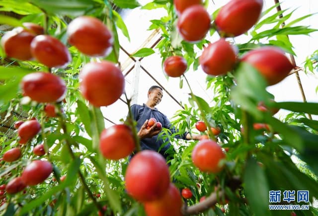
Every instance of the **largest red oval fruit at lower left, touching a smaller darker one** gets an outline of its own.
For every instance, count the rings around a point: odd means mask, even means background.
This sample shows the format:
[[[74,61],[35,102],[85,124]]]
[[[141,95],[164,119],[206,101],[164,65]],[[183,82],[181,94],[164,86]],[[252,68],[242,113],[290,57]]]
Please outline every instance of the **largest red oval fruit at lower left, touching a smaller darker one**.
[[[28,186],[42,183],[53,171],[49,161],[33,160],[22,171],[22,180]]]

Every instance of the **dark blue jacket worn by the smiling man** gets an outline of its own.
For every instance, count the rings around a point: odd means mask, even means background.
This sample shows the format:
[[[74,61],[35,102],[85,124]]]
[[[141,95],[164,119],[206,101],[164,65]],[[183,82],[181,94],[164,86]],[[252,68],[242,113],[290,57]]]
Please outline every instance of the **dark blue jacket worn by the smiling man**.
[[[137,121],[137,131],[140,130],[147,119],[155,118],[157,122],[160,122],[162,124],[163,128],[169,129],[172,134],[178,132],[178,130],[176,130],[174,127],[171,127],[170,121],[164,114],[159,112],[157,108],[151,109],[146,104],[143,104],[143,106],[134,104],[131,106],[131,111],[133,118],[135,119],[135,121]],[[176,135],[174,138],[186,140],[187,134],[188,132],[185,132],[182,136]],[[152,138],[142,139],[140,140],[140,144],[142,150],[150,149],[159,151],[159,153],[165,158],[168,156],[165,151],[171,146],[168,139],[163,139],[162,136],[159,135],[156,135]],[[161,147],[162,144],[164,145]]]

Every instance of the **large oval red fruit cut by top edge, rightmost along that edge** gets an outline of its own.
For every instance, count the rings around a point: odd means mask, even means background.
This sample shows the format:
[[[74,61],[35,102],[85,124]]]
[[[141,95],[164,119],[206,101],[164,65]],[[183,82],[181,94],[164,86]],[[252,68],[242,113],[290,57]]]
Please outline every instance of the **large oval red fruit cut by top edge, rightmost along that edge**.
[[[263,0],[230,0],[218,12],[215,24],[221,35],[239,36],[259,19]]]

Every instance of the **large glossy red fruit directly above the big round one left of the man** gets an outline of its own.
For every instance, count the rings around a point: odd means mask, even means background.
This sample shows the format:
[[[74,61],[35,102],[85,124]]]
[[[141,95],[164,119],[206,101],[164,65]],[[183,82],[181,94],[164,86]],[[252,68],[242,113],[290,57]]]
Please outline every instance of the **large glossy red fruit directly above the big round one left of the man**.
[[[79,16],[70,22],[68,42],[88,56],[107,56],[113,45],[113,35],[99,19]]]

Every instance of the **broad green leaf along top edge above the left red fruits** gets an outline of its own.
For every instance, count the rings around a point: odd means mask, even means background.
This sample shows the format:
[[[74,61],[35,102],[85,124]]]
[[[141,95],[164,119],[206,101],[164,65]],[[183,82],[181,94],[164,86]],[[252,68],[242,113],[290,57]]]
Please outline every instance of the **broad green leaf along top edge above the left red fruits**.
[[[102,6],[91,0],[31,0],[38,7],[51,14],[80,16],[86,11]]]

